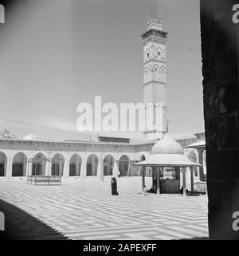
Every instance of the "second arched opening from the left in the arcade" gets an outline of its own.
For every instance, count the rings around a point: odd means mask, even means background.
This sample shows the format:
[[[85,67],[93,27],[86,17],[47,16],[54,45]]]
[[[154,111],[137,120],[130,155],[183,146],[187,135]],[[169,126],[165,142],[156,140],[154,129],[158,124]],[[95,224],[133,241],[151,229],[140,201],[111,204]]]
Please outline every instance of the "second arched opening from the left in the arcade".
[[[14,156],[12,176],[13,177],[22,177],[25,176],[27,165],[27,157],[24,153],[19,152]]]

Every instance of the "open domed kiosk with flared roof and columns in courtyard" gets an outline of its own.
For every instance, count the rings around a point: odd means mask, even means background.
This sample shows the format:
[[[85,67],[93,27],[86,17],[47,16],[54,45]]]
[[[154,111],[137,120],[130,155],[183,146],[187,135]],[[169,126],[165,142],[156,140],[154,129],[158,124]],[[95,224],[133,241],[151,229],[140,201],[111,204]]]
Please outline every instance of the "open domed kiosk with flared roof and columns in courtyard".
[[[200,166],[184,156],[183,148],[178,142],[166,134],[162,140],[155,143],[150,156],[146,160],[135,163],[138,166],[152,168],[152,191],[157,193],[179,193],[180,171],[182,171],[183,195],[186,195],[186,167],[190,167],[191,192],[194,192],[194,167]],[[145,184],[144,171],[142,174]]]

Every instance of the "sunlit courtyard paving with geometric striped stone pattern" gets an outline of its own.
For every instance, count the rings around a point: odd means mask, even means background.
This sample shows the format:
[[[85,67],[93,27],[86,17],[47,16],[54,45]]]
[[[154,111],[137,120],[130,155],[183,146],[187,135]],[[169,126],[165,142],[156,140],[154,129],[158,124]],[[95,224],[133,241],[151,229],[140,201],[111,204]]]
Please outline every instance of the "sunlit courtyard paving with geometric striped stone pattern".
[[[147,187],[151,179],[147,178]],[[70,179],[61,186],[33,186],[0,179],[0,199],[71,239],[182,239],[208,237],[207,196],[141,193],[140,177]]]

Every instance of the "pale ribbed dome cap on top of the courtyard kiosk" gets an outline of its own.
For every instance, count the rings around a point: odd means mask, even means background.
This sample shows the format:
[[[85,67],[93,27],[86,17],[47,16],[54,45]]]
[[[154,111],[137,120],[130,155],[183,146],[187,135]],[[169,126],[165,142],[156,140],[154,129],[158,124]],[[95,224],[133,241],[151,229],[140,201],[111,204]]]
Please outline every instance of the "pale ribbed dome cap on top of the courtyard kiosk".
[[[162,140],[159,140],[155,143],[151,150],[151,154],[178,154],[183,155],[183,149],[176,142],[172,140],[167,134],[163,137]]]

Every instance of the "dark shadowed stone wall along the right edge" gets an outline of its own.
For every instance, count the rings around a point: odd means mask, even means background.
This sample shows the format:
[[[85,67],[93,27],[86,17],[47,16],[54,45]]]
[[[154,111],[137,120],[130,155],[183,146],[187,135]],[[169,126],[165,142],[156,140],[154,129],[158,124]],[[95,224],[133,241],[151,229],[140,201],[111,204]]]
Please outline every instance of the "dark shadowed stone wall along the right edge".
[[[203,100],[209,231],[212,239],[239,238],[239,28],[235,0],[201,0]],[[238,216],[239,217],[239,216]]]

